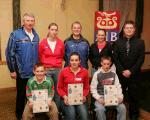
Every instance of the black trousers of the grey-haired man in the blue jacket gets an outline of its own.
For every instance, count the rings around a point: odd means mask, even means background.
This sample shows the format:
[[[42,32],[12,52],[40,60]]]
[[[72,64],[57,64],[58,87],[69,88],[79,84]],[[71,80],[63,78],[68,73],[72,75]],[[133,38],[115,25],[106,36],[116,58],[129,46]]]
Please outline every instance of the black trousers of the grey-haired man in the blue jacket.
[[[26,85],[28,78],[21,78],[17,75],[16,79],[16,117],[17,119],[22,118],[22,114],[24,111],[25,103],[26,103]]]

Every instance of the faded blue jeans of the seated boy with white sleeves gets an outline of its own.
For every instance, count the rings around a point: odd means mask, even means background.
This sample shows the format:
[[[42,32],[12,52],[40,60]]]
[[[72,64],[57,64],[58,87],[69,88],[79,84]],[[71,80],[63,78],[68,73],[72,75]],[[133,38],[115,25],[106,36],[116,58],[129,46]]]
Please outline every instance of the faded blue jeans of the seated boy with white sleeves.
[[[126,107],[125,107],[125,105],[123,103],[119,104],[116,107],[116,110],[117,110],[117,120],[126,120]],[[95,101],[95,111],[96,111],[97,120],[106,120],[105,106],[100,104],[98,101]]]

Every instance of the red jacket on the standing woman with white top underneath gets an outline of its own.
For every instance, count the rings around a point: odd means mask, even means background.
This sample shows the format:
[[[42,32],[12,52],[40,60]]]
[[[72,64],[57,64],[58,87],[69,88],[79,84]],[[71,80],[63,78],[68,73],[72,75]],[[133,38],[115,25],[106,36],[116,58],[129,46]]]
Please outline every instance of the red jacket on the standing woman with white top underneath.
[[[39,59],[44,67],[61,68],[64,57],[64,43],[57,38],[54,53],[52,52],[47,38],[39,44]]]

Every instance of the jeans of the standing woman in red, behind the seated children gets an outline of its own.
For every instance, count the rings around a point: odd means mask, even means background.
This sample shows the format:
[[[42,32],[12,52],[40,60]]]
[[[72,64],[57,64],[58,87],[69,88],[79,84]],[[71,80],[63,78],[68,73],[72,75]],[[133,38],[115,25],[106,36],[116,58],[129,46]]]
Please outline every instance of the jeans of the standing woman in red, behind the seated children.
[[[61,70],[60,68],[56,68],[54,70],[47,70],[47,73],[46,73],[46,75],[52,77],[54,81],[54,89],[55,89],[54,101],[57,105],[59,112],[61,111],[61,104],[60,104],[60,96],[58,95],[58,92],[57,92],[57,83],[58,83],[58,75],[59,75],[60,70]]]

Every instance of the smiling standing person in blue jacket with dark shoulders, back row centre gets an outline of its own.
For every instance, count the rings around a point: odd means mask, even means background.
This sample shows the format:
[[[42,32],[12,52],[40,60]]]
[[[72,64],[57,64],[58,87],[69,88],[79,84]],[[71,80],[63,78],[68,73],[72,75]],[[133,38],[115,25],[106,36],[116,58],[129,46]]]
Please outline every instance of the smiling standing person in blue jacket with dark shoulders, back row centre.
[[[81,35],[82,26],[76,21],[71,26],[72,35],[65,40],[65,67],[69,65],[72,52],[77,52],[81,57],[81,65],[88,68],[89,42]]]

